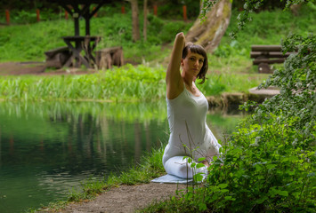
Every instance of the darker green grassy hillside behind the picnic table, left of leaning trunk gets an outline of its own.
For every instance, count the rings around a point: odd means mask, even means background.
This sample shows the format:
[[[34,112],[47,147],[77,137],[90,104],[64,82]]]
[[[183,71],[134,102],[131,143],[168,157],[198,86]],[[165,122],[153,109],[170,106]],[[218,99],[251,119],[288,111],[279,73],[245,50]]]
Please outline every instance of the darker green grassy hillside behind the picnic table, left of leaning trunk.
[[[142,17],[140,17],[142,31]],[[85,36],[85,20],[80,20],[80,35]],[[191,23],[172,22],[149,15],[148,41],[132,42],[131,14],[115,13],[91,20],[91,35],[101,36],[97,49],[122,46],[125,59],[136,63],[161,57],[161,44],[171,42],[180,30]],[[45,51],[65,46],[61,36],[73,36],[74,23],[63,18],[25,25],[12,25],[0,31],[1,61],[43,61]]]

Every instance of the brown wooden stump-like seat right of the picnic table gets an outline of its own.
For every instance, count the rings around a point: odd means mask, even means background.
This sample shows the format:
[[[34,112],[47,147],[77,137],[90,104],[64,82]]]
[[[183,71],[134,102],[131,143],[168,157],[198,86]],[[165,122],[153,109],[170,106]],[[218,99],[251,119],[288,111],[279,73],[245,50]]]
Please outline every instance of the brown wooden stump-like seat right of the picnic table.
[[[111,68],[112,66],[123,66],[123,48],[109,47],[96,52],[96,64],[99,68]]]

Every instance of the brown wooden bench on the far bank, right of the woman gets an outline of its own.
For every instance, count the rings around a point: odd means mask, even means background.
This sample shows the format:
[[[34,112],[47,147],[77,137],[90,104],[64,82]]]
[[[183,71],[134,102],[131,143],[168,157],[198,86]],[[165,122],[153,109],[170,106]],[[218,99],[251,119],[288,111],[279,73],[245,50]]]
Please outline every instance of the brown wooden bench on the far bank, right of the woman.
[[[272,73],[271,64],[281,64],[294,52],[283,54],[280,45],[252,45],[250,58],[254,59],[253,65],[258,66],[259,73]]]

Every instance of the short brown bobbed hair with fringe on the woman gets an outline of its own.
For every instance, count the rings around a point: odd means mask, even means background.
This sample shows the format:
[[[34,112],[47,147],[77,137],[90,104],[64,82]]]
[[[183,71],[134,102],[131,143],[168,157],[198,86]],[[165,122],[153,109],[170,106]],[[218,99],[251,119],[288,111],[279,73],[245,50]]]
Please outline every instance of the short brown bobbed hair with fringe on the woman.
[[[202,79],[200,84],[204,83],[207,79],[207,69],[208,69],[208,61],[207,61],[207,52],[204,50],[202,46],[194,43],[187,43],[182,50],[182,59],[185,59],[190,52],[198,53],[199,55],[204,57],[203,66],[201,70],[199,70],[199,74],[197,76],[198,79]]]

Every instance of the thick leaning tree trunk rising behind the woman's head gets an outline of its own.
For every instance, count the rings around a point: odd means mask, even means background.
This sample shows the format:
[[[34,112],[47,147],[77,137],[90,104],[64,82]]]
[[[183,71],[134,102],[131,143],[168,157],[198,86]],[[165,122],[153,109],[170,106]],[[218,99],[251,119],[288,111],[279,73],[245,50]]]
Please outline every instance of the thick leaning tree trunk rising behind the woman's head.
[[[196,20],[190,28],[185,40],[203,46],[206,51],[213,52],[231,20],[231,1],[221,0],[207,12],[206,20]]]

